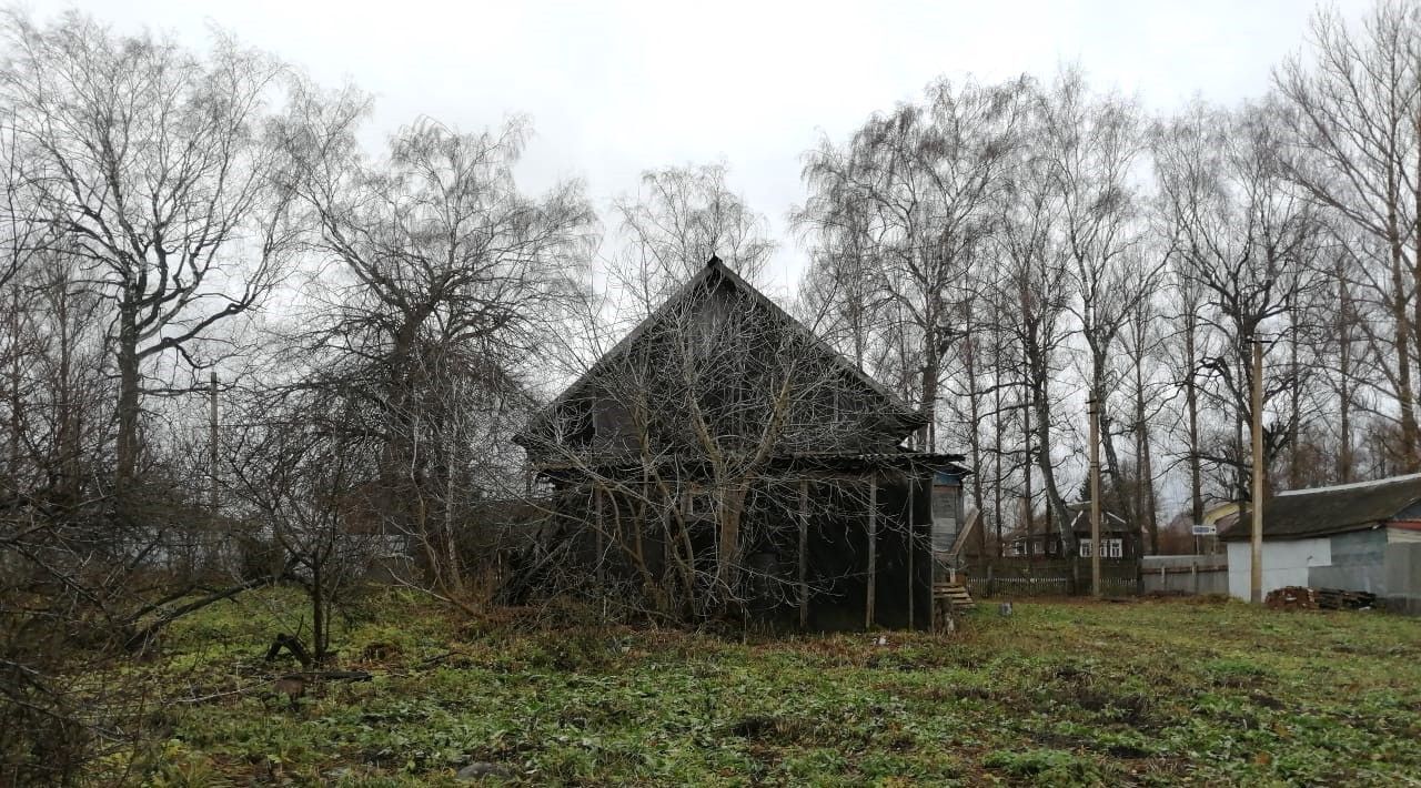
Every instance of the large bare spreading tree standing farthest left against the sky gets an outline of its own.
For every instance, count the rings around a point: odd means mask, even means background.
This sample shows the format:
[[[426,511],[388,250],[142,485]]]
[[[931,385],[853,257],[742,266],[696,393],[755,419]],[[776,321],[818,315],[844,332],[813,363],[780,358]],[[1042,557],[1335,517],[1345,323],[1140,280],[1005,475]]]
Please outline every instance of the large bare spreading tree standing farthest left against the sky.
[[[219,37],[200,57],[169,38],[117,35],[67,14],[11,13],[0,99],[13,112],[34,207],[55,253],[84,261],[114,305],[115,481],[138,463],[145,368],[212,362],[195,351],[276,284],[290,192],[263,141],[283,67]]]

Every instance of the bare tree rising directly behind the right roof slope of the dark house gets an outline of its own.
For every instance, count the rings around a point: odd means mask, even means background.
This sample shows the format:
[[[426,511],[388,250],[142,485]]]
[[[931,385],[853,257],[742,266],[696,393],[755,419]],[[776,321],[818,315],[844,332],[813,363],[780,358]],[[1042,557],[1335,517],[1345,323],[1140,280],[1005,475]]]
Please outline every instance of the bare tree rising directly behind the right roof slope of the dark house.
[[[922,105],[871,118],[845,151],[824,143],[804,166],[813,195],[797,221],[818,227],[831,244],[848,244],[855,264],[837,277],[848,314],[860,319],[864,310],[858,281],[878,290],[882,307],[874,314],[894,322],[884,339],[897,345],[892,361],[885,358],[895,369],[880,373],[898,378],[904,396],[929,416],[925,447],[936,443],[945,359],[963,335],[956,319],[971,300],[969,271],[983,260],[996,221],[993,204],[1017,145],[1025,85],[934,82]],[[867,271],[860,263],[865,240]]]

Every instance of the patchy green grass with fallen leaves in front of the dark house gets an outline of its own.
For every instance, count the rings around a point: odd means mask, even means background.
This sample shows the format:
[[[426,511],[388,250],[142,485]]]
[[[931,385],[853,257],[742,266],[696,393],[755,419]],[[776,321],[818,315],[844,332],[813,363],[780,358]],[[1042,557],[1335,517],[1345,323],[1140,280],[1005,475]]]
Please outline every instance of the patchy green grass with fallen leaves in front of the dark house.
[[[210,608],[135,669],[216,696],[153,704],[159,785],[453,785],[468,761],[583,785],[1421,784],[1418,619],[1026,601],[880,646],[531,629],[391,592],[337,636],[374,680],[293,708],[261,662],[281,608]]]

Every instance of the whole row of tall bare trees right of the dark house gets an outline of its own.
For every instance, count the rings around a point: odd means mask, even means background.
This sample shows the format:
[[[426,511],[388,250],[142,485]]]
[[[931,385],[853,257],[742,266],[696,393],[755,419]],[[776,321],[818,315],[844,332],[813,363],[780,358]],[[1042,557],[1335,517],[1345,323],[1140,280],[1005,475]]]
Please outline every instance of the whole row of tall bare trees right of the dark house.
[[[1246,498],[1255,342],[1270,490],[1421,470],[1418,14],[1319,11],[1236,106],[941,80],[806,156],[800,297],[969,454],[983,548],[1071,542],[1090,402],[1103,503],[1147,548]]]

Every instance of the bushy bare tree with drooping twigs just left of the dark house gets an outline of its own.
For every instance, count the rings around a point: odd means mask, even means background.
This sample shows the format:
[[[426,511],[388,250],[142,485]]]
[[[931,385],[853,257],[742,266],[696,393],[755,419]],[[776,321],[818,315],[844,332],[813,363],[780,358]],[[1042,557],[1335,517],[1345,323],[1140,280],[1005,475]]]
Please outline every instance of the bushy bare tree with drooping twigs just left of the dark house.
[[[360,112],[347,97],[314,125],[348,129]],[[338,146],[290,139],[318,229],[313,251],[334,264],[314,290],[324,314],[301,339],[317,369],[310,385],[364,402],[381,469],[368,501],[388,532],[421,545],[426,588],[460,605],[453,544],[463,522],[450,491],[492,456],[470,454],[476,427],[500,430],[487,436],[495,443],[512,436],[503,409],[529,399],[523,375],[583,300],[591,253],[593,214],[577,183],[540,199],[519,192],[513,166],[527,131],[513,121],[460,133],[426,121],[401,131],[382,162],[341,131]]]

